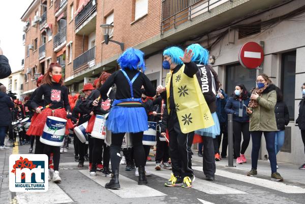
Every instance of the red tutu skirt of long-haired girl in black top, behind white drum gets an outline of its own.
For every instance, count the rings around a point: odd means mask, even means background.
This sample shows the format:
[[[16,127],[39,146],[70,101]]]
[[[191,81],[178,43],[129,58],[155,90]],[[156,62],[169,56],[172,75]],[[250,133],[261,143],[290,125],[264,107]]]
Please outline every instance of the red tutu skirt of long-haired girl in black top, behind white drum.
[[[52,113],[52,109],[46,108],[42,111],[41,114],[37,114],[35,118],[34,116],[32,118],[31,126],[29,126],[26,132],[27,135],[41,136],[48,116],[55,116],[67,120],[66,133],[65,133],[66,135],[69,134],[69,129],[73,128],[72,121],[70,119],[67,119],[67,112],[65,108],[56,109],[54,111],[54,114]]]

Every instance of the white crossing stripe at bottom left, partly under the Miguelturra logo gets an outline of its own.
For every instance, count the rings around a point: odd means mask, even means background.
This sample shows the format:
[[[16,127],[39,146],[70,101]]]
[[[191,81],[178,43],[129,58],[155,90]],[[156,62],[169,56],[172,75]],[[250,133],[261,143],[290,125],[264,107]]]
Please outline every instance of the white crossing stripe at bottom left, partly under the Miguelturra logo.
[[[51,195],[50,195],[51,192]],[[74,202],[57,184],[49,182],[47,192],[16,192],[18,204],[71,203]]]

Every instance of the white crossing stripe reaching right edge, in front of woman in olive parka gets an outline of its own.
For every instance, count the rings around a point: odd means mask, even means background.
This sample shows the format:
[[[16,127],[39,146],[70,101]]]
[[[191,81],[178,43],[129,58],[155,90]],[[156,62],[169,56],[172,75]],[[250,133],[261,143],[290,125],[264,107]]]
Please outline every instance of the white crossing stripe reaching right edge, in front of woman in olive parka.
[[[195,166],[193,169],[202,171],[202,168],[197,167],[197,166]],[[256,177],[248,177],[246,175],[241,175],[238,173],[231,173],[229,171],[217,169],[215,174],[217,176],[234,179],[234,180],[241,181],[241,182],[246,182],[248,184],[254,184],[254,185],[269,188],[272,190],[281,191],[283,193],[305,193],[305,189],[298,187],[298,186],[292,186],[292,185],[288,185],[285,183],[270,181],[270,180],[266,180],[266,179],[260,179],[260,178],[256,178]]]

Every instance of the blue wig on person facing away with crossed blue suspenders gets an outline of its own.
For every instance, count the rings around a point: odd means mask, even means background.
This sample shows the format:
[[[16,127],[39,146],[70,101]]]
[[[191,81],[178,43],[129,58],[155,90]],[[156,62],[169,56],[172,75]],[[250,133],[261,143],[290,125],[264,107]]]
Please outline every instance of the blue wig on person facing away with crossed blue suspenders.
[[[123,54],[121,54],[117,63],[121,69],[130,69],[130,70],[142,70],[144,73],[146,67],[144,62],[144,53],[141,50],[128,48]]]

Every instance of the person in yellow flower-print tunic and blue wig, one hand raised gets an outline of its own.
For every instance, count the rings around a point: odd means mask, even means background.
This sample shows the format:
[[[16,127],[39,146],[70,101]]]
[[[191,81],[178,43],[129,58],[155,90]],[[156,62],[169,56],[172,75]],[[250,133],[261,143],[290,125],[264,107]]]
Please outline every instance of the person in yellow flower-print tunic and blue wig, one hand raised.
[[[167,100],[169,151],[172,162],[170,180],[165,186],[192,187],[195,179],[192,169],[194,131],[214,125],[195,77],[198,67],[191,62],[192,50],[183,52],[170,47],[163,52],[163,68],[170,69],[166,76],[166,89],[159,85],[157,91]]]

